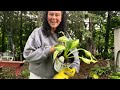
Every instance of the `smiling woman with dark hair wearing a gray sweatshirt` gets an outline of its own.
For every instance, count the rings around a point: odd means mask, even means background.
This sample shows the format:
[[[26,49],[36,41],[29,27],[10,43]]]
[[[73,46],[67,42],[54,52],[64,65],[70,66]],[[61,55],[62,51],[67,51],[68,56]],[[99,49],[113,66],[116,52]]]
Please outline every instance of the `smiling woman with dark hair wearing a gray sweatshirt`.
[[[66,34],[67,14],[65,11],[46,11],[43,26],[35,29],[28,38],[23,56],[29,62],[30,79],[51,79],[57,73],[52,55],[55,51],[59,32]],[[71,65],[79,72],[80,61]]]

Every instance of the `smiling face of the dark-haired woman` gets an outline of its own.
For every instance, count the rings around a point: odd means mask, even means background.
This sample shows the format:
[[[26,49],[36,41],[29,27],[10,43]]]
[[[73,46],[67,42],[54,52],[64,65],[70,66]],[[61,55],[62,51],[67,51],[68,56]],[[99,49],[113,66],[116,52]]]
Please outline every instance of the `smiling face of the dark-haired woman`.
[[[54,31],[60,24],[62,19],[61,11],[48,11],[47,21],[51,27],[51,30]]]

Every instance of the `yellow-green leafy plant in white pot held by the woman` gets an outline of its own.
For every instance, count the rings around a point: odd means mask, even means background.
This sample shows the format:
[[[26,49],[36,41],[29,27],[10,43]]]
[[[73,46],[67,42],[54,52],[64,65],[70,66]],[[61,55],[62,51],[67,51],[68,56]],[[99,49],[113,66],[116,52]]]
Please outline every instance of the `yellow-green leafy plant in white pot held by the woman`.
[[[53,54],[53,61],[54,61],[54,69],[59,72],[60,70],[64,68],[68,68],[70,64],[74,60],[74,55],[73,53],[76,51],[83,51],[83,55],[81,56],[79,53],[79,58],[83,62],[90,64],[91,62],[96,63],[97,60],[95,57],[87,50],[83,48],[78,48],[79,45],[79,39],[71,39],[67,38],[63,32],[61,32],[63,36],[58,38],[59,44],[55,45],[55,52]]]

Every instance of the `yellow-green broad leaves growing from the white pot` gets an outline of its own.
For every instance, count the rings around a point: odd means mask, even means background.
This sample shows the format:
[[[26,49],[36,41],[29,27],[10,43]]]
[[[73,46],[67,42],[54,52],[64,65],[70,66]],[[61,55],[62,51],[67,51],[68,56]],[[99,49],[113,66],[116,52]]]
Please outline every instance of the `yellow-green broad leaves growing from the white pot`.
[[[63,32],[61,32],[63,33]],[[70,58],[74,58],[74,56],[71,54],[73,54],[74,52],[78,51],[78,50],[82,50],[84,51],[84,54],[86,57],[89,58],[85,58],[83,56],[79,56],[78,58],[80,58],[81,60],[83,60],[83,62],[90,64],[90,62],[96,63],[96,59],[95,57],[87,50],[83,49],[83,48],[77,48],[79,45],[79,39],[71,39],[71,38],[67,38],[64,33],[63,36],[58,38],[58,42],[60,42],[60,44],[55,45],[55,49],[56,51],[53,54],[53,59],[56,60],[56,58],[58,58],[57,56],[62,56],[63,58],[63,62],[65,60],[68,60]],[[63,55],[60,55],[61,53],[63,53]]]

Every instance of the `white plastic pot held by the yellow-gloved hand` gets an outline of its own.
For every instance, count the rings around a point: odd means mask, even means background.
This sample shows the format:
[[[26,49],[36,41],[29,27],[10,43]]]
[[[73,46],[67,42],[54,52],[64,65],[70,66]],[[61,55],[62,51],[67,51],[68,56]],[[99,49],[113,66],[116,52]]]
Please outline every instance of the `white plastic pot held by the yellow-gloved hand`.
[[[56,60],[54,62],[54,69],[55,69],[55,71],[59,72],[60,70],[62,70],[64,68],[69,68],[70,65],[71,65],[71,63],[64,63],[59,58],[56,58]]]

